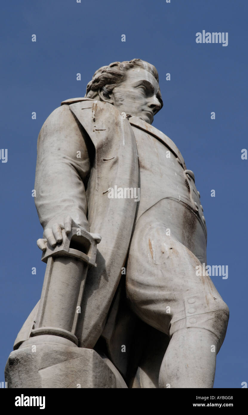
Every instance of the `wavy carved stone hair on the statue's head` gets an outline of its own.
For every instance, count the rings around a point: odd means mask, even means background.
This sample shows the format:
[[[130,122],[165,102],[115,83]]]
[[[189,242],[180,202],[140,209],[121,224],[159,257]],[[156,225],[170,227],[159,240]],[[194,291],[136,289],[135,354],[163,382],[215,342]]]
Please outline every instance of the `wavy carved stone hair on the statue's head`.
[[[107,66],[102,66],[94,73],[92,80],[88,83],[85,97],[94,99],[98,95],[98,90],[103,89],[106,92],[112,92],[115,86],[125,81],[126,71],[141,66],[150,72],[158,81],[158,71],[155,66],[142,59],[132,59],[131,61],[113,62]]]

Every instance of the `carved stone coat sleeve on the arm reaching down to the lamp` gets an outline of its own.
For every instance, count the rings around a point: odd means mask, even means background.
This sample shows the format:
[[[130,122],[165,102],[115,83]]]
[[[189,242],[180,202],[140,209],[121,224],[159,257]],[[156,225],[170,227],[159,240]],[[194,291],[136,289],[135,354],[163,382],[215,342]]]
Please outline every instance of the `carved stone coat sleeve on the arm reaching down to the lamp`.
[[[89,231],[85,178],[90,172],[82,132],[67,105],[56,108],[38,137],[34,189],[42,227],[62,223],[70,215]]]

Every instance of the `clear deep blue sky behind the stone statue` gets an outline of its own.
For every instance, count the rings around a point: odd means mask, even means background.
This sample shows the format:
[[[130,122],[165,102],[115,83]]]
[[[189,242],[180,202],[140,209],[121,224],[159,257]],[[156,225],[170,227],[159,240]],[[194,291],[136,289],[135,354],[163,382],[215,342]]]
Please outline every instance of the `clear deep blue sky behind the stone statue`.
[[[229,267],[228,279],[212,277],[230,308],[214,387],[241,388],[248,382],[248,160],[241,160],[241,149],[248,148],[248,3],[12,0],[2,3],[1,12],[0,148],[8,149],[8,161],[0,162],[0,381],[44,278],[36,247],[42,228],[32,198],[41,125],[62,100],[83,97],[100,66],[141,58],[156,66],[160,78],[164,107],[153,125],[175,142],[195,173],[207,221],[208,264]],[[203,29],[228,32],[228,46],[197,44]]]

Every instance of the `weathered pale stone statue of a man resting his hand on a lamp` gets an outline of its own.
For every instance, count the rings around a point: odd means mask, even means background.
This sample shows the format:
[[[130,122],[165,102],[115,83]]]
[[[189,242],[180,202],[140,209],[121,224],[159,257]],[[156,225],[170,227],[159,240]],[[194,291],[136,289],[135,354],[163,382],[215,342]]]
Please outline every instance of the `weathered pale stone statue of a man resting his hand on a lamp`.
[[[194,173],[152,127],[156,68],[95,72],[41,128],[41,300],[7,361],[12,388],[212,388],[229,310],[208,275]],[[214,351],[214,352],[213,352]]]

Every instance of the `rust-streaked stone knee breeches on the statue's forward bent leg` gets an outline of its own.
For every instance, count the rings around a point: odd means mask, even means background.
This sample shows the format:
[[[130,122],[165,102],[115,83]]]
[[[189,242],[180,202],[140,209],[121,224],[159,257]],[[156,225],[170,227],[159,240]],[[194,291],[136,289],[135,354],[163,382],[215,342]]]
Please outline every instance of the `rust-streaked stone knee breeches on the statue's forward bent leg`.
[[[170,337],[199,327],[211,331],[220,347],[229,309],[211,278],[196,275],[206,258],[206,236],[192,215],[185,204],[164,199],[139,218],[127,262],[127,298],[141,320]],[[194,232],[186,222],[194,222]]]

